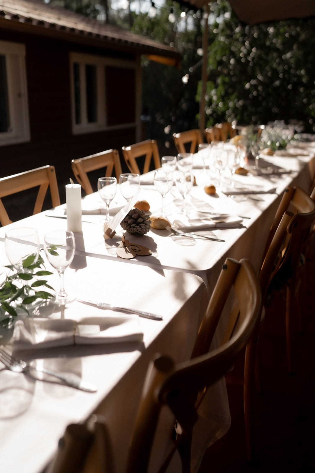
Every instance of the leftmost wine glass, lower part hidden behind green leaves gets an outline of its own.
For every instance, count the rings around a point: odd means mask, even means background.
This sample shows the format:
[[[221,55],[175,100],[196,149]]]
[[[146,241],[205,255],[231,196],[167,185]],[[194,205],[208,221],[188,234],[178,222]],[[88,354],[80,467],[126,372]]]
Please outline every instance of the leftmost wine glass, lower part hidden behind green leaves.
[[[39,236],[35,228],[11,228],[6,232],[4,246],[9,262],[18,272],[27,272],[23,262],[34,257],[36,263],[39,255]]]

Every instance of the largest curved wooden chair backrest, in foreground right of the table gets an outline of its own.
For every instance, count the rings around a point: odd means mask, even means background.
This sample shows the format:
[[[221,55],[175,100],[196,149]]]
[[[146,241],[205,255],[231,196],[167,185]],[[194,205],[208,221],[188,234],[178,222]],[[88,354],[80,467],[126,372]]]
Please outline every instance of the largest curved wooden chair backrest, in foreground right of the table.
[[[227,296],[234,288],[238,310],[232,310],[221,346],[208,352]],[[174,365],[169,357],[154,360],[148,370],[128,456],[127,473],[145,473],[162,404],[167,404],[189,438],[204,390],[232,366],[259,322],[260,288],[247,260],[227,259],[213,290],[189,361]],[[188,459],[188,463],[190,457]]]

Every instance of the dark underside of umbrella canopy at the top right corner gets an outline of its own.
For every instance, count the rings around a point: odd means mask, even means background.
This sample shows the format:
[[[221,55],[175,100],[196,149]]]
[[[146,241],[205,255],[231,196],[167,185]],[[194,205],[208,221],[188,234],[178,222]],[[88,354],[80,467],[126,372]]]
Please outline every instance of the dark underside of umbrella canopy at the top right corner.
[[[196,8],[203,8],[209,0],[186,0]],[[315,16],[314,0],[229,0],[238,19],[248,25],[289,18]]]

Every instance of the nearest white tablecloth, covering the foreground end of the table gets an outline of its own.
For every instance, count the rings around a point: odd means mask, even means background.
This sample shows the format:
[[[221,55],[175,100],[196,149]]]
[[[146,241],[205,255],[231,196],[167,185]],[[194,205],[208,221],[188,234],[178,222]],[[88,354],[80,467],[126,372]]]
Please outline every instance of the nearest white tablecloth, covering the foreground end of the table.
[[[3,251],[3,243],[1,251]],[[73,346],[22,353],[24,359],[38,358],[45,368],[75,373],[97,386],[84,393],[66,386],[32,381],[23,374],[0,370],[0,471],[38,473],[53,455],[65,427],[86,419],[92,412],[105,415],[111,432],[116,472],[125,469],[146,369],[157,352],[176,361],[189,357],[200,321],[203,283],[197,276],[113,261],[76,257],[65,272],[69,293],[103,301],[118,301],[128,307],[163,316],[162,321],[140,318],[143,344]],[[101,264],[100,264],[101,263]],[[58,288],[58,277],[51,284]],[[69,304],[65,311],[49,305],[34,316],[80,319],[106,316],[108,311]],[[2,365],[1,365],[2,366]],[[9,401],[10,400],[10,401]],[[9,402],[8,402],[9,401]]]

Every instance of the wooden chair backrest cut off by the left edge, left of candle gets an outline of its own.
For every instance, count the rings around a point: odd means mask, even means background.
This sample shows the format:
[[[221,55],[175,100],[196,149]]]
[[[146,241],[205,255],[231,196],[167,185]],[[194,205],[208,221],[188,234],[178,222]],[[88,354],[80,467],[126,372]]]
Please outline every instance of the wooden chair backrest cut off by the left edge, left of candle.
[[[39,213],[43,208],[43,201],[48,187],[51,193],[52,207],[60,205],[58,184],[54,166],[42,166],[24,173],[15,174],[0,179],[0,222],[1,225],[9,225],[12,221],[9,219],[8,213],[1,201],[2,197],[12,195],[18,192],[32,189],[39,186],[39,191],[35,201],[33,215]]]

